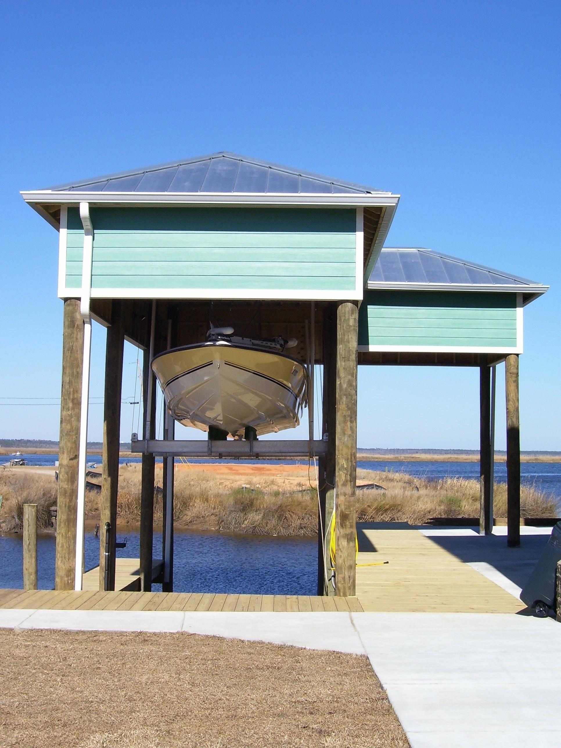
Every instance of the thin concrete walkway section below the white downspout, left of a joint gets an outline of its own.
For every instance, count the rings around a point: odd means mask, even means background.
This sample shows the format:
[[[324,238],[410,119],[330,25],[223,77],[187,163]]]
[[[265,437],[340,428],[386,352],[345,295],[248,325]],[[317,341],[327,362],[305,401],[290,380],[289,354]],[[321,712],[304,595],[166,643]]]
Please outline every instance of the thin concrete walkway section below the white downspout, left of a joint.
[[[30,611],[28,611],[29,613]],[[19,628],[66,631],[181,631],[183,613],[147,610],[34,610]]]

